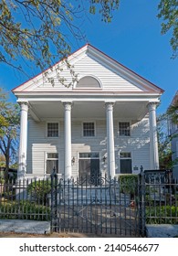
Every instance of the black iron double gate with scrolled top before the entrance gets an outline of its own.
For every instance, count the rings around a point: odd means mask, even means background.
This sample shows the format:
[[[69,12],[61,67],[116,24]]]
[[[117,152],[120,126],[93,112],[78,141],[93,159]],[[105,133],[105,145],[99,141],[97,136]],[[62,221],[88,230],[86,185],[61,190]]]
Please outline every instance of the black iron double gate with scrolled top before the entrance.
[[[93,175],[64,180],[54,174],[51,187],[52,231],[140,235],[139,192],[123,193],[116,178]]]

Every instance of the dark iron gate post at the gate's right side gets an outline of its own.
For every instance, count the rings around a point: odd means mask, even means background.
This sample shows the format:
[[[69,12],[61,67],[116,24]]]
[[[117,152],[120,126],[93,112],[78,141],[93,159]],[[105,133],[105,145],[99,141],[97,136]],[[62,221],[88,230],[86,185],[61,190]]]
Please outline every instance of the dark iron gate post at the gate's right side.
[[[139,174],[139,229],[142,237],[145,236],[146,232],[145,190],[145,177],[141,166],[141,173]]]

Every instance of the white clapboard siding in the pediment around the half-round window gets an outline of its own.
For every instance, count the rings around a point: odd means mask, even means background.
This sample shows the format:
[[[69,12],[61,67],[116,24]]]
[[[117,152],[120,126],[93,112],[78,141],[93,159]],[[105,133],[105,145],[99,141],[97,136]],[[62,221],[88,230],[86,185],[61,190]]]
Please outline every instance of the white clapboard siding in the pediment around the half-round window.
[[[79,59],[75,63],[74,71],[78,74],[79,78],[84,76],[92,76],[99,79],[104,91],[142,91],[141,88],[132,84],[129,80],[123,78],[119,72],[111,70],[105,64],[92,59],[88,55],[85,55],[83,59]],[[42,80],[38,86],[34,86],[33,91],[66,91],[67,88],[61,84],[57,79],[57,74],[53,72],[54,86],[50,82]],[[71,82],[71,75],[68,69],[61,71],[60,76],[65,78],[65,84]],[[26,91],[31,91],[32,88],[26,88]],[[68,91],[72,91],[72,87],[68,88]]]

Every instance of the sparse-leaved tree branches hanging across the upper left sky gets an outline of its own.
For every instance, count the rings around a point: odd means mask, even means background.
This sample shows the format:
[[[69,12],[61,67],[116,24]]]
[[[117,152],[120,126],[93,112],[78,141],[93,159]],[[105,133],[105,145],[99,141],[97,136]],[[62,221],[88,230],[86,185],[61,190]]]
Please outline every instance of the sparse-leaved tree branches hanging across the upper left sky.
[[[119,0],[2,0],[0,2],[0,62],[16,66],[19,58],[29,60],[41,70],[70,53],[70,37],[83,38],[78,22],[99,11],[110,22]],[[29,63],[29,62],[28,62]],[[70,67],[68,67],[70,68]]]

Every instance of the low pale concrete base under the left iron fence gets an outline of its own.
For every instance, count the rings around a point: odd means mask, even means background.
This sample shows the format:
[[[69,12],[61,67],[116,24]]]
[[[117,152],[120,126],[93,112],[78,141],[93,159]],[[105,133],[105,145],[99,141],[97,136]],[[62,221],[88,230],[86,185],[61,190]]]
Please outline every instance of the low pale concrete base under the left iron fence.
[[[50,233],[50,222],[26,219],[0,219],[0,231],[48,234]]]

